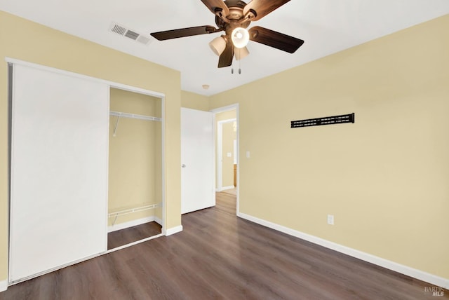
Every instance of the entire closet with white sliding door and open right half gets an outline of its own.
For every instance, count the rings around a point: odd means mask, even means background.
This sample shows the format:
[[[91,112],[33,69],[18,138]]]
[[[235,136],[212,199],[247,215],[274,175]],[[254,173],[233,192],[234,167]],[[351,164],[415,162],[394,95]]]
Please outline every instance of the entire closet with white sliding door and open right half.
[[[7,61],[9,283],[161,236],[163,95]]]

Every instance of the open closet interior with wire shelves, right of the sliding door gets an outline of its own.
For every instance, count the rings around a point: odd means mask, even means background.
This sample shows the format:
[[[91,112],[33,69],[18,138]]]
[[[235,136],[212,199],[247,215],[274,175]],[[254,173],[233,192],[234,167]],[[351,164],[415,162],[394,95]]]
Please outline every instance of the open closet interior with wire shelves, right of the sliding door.
[[[108,250],[161,234],[161,100],[111,88]]]

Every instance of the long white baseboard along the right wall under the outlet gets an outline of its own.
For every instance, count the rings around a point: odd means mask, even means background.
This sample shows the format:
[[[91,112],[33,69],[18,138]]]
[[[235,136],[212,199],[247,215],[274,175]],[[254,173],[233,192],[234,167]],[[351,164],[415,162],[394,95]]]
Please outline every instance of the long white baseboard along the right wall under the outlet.
[[[330,242],[329,240],[324,240],[323,238],[318,238],[316,236],[311,236],[307,233],[303,233],[301,231],[296,231],[294,229],[290,229],[285,226],[281,226],[279,224],[272,223],[270,221],[265,221],[263,219],[259,219],[257,217],[250,216],[249,214],[243,214],[241,212],[237,213],[238,217],[242,219],[246,219],[248,221],[252,221],[254,223],[260,224],[262,226],[274,229],[276,231],[281,231],[290,236],[295,236],[296,238],[301,238],[302,240],[307,240],[316,245],[321,245],[323,247],[329,248],[331,250],[335,250],[337,252],[347,254],[351,257],[356,257],[357,259],[361,259],[363,261],[368,261],[371,264],[375,264],[377,266],[382,266],[383,268],[388,268],[391,271],[395,271],[404,275],[408,275],[413,278],[417,278],[424,282],[429,282],[432,285],[436,285],[438,287],[444,287],[445,289],[449,289],[449,279],[442,278],[424,271],[417,270],[415,268],[410,268],[409,266],[404,266],[398,264],[394,261],[389,261],[387,259],[382,259],[381,257],[376,257],[372,254],[368,254],[366,252],[361,252],[359,250],[352,249],[350,247],[346,247],[337,243]]]

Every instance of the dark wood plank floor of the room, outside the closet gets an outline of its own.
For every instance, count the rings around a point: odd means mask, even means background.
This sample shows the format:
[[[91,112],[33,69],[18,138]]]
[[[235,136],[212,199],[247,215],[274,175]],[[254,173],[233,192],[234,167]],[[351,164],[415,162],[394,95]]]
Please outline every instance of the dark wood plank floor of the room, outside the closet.
[[[448,299],[432,285],[235,216],[235,196],[184,231],[8,287],[0,299]],[[37,259],[37,258],[36,258]]]

